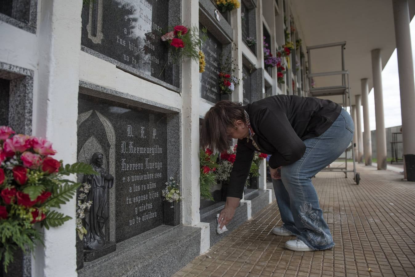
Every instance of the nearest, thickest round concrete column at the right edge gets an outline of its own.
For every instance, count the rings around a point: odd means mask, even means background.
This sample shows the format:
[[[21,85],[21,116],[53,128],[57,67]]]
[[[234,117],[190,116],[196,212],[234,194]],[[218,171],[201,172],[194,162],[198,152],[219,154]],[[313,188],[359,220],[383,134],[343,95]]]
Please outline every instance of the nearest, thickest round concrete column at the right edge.
[[[408,0],[393,0],[393,18],[398,52],[403,153],[415,154],[415,124],[413,123],[415,118],[415,86]]]

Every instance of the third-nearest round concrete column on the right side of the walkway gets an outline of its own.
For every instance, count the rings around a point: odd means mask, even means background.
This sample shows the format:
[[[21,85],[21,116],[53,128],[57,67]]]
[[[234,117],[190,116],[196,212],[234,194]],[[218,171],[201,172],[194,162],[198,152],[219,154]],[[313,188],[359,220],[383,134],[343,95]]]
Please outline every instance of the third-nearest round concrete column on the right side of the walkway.
[[[372,164],[372,135],[370,132],[370,122],[369,122],[369,85],[367,79],[361,79],[362,87],[362,106],[363,106],[363,155],[364,155],[364,164]]]

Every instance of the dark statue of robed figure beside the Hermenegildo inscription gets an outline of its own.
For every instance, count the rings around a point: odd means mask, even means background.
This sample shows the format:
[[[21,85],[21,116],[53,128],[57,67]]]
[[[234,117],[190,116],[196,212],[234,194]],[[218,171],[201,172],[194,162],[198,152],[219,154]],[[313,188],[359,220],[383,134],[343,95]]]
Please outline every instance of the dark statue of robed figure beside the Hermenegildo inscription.
[[[91,165],[98,175],[85,176],[84,182],[91,185],[85,202],[92,201],[92,205],[85,212],[85,229],[86,236],[83,238],[83,248],[85,250],[94,250],[105,245],[105,235],[103,228],[110,217],[110,207],[107,197],[107,189],[114,185],[114,176],[107,174],[103,168],[104,155],[95,152],[91,158]]]

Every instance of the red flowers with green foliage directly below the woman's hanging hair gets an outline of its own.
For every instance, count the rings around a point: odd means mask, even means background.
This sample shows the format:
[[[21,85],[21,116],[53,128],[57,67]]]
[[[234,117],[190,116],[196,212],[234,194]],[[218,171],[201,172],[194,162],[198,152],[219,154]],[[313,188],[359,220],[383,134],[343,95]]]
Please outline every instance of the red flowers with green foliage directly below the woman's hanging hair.
[[[216,170],[218,165],[216,163],[218,154],[213,154],[209,148],[205,150],[200,149],[199,164],[200,164],[200,197],[210,199],[213,201],[210,188],[216,184]]]

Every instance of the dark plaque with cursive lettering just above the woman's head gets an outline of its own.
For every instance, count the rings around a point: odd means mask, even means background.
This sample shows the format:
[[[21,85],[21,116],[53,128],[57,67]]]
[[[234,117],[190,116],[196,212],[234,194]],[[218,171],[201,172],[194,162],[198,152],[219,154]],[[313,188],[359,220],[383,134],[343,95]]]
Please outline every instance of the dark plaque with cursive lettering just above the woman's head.
[[[200,30],[202,29],[200,25]],[[202,45],[205,53],[205,72],[200,74],[200,97],[212,103],[220,101],[219,70],[222,56],[222,44],[209,31]]]

